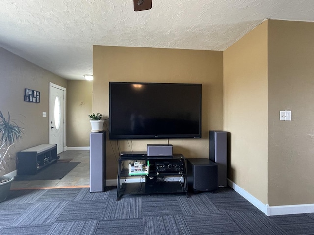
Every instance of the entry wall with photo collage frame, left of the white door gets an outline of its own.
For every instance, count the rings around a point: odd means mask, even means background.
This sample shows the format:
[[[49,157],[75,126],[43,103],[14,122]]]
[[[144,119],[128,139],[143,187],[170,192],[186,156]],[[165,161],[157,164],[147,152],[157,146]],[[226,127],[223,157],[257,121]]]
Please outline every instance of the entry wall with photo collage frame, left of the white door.
[[[23,127],[23,139],[11,149],[16,152],[49,143],[49,82],[66,87],[66,80],[0,47],[0,110]],[[24,102],[24,89],[40,91],[40,103]],[[42,113],[47,112],[47,117]],[[15,164],[0,175],[15,170]]]

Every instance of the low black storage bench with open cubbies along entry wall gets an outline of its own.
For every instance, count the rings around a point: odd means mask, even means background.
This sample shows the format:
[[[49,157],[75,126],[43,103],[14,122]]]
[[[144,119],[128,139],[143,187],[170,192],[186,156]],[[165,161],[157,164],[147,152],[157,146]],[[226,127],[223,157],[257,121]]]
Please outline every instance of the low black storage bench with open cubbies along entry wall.
[[[56,144],[41,144],[18,152],[18,175],[35,175],[37,171],[57,161]]]

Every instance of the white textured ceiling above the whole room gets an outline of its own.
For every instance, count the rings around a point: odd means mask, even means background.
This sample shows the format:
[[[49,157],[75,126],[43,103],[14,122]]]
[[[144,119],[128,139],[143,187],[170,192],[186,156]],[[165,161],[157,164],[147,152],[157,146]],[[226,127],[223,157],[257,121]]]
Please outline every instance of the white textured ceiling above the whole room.
[[[80,80],[93,45],[223,51],[267,18],[314,21],[314,0],[0,0],[0,47]]]

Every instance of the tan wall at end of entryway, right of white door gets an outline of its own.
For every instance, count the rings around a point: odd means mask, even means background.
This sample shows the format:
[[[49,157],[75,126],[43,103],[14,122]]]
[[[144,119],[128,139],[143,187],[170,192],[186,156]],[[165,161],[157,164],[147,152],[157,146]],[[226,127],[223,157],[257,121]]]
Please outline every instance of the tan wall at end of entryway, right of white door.
[[[66,145],[68,147],[89,146],[92,113],[93,83],[83,80],[67,80],[67,125]]]

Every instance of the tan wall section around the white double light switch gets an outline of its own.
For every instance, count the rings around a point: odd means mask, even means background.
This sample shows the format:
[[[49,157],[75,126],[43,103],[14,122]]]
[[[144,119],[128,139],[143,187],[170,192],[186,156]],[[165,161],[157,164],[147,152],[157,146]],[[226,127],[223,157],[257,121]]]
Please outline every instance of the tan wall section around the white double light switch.
[[[314,203],[314,23],[268,24],[268,203]],[[292,121],[279,121],[291,110]]]

